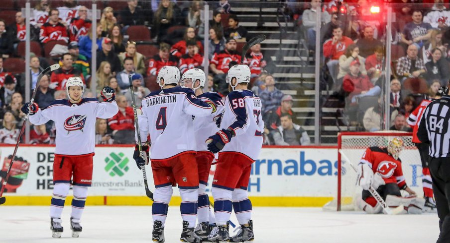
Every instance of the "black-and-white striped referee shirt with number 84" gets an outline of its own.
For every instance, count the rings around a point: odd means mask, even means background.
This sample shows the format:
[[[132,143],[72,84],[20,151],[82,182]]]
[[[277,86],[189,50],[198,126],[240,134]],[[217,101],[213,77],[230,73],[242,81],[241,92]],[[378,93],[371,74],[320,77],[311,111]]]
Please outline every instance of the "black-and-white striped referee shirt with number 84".
[[[429,155],[434,158],[450,157],[450,96],[432,101],[424,111],[417,136],[430,144]]]

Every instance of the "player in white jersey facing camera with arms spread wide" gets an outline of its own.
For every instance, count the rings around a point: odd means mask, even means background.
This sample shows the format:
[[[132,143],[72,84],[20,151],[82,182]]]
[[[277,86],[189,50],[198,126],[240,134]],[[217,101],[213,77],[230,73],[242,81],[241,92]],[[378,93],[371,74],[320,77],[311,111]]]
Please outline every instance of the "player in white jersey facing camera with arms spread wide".
[[[56,126],[56,148],[53,162],[53,196],[50,205],[52,237],[60,238],[63,232],[61,213],[64,202],[73,185],[70,228],[72,237],[77,238],[82,227],[81,215],[92,182],[93,156],[95,147],[95,123],[97,118],[108,119],[118,112],[114,101],[114,90],[105,87],[101,96],[82,98],[83,80],[71,77],[66,82],[68,100],[55,100],[48,107],[39,109],[36,103],[26,103],[22,112],[29,114],[34,125],[52,120]]]

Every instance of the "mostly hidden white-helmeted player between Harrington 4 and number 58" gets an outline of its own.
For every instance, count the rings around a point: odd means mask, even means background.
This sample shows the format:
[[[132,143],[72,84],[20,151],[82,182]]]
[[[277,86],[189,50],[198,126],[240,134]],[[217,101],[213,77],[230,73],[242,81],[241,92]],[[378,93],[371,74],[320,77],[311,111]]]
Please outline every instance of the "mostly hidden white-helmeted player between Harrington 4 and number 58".
[[[204,101],[212,101],[217,105],[217,114],[224,111],[224,101],[222,97],[216,92],[203,93],[202,89],[205,86],[206,76],[205,72],[199,68],[192,68],[183,73],[181,77],[181,87],[190,88],[194,90],[197,98]],[[216,120],[219,118],[216,114],[206,117],[194,117],[194,132],[195,141],[197,145],[197,154],[195,159],[199,169],[199,201],[197,220],[199,224],[195,229],[195,233],[201,238],[205,239],[215,226],[214,215],[210,214],[210,199],[206,193],[206,186],[208,184],[208,177],[210,175],[211,164],[214,160],[214,154],[208,150],[205,140],[208,136],[217,130]]]

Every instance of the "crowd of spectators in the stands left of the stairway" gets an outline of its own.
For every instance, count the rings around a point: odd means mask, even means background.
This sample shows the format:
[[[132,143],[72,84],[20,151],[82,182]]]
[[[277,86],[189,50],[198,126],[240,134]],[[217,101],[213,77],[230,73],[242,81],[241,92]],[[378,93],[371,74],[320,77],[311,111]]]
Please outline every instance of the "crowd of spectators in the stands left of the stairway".
[[[101,4],[96,29],[92,28],[90,5],[82,1],[36,0],[31,3],[34,4],[30,19],[33,48],[30,63],[27,63],[29,73],[8,72],[7,65],[3,68],[3,61],[19,59],[24,63],[24,52],[19,50],[24,46],[26,28],[20,9],[11,22],[3,20],[0,13],[0,143],[15,143],[18,139],[25,117],[20,107],[25,103],[26,76],[30,77],[33,89],[40,72],[50,64],[58,62],[61,68],[40,80],[35,98],[40,108],[55,99],[67,98],[64,87],[69,77],[82,78],[86,85],[85,97],[99,98],[101,89],[110,86],[117,93],[119,112],[111,119],[97,120],[96,143],[134,143],[128,75],[132,75],[134,99],[139,108],[146,95],[160,89],[155,80],[162,66],[177,66],[184,73],[194,67],[203,69],[208,58],[210,74],[205,89],[225,96],[229,92],[226,72],[240,63],[240,50],[252,37],[239,25],[239,17],[233,14],[227,0],[208,2],[213,14],[207,42],[202,20],[205,2],[200,0],[128,0],[123,9],[114,9],[114,4],[108,5],[105,1]],[[205,45],[209,46],[209,53],[204,53]],[[91,69],[93,46],[97,50],[97,70]],[[265,143],[310,144],[307,132],[295,123],[292,96],[278,90],[275,78],[264,70],[267,60],[261,45],[253,46],[243,62],[250,66],[251,82],[255,84],[252,90],[261,97],[264,120],[270,122],[264,132]],[[91,90],[94,73],[96,90]],[[31,143],[55,142],[52,122],[32,126],[30,131]]]

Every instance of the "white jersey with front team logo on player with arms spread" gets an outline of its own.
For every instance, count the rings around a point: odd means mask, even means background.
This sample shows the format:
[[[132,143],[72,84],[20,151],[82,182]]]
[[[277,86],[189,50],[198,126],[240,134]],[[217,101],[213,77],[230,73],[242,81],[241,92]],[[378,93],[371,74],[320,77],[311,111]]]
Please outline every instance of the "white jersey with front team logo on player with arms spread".
[[[85,155],[94,153],[96,119],[112,118],[117,112],[115,101],[99,103],[97,99],[84,98],[78,104],[71,104],[61,99],[39,109],[36,114],[29,116],[29,120],[35,125],[50,120],[55,122],[55,154]]]

